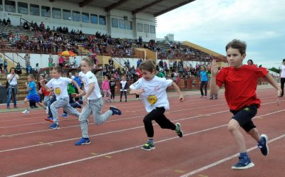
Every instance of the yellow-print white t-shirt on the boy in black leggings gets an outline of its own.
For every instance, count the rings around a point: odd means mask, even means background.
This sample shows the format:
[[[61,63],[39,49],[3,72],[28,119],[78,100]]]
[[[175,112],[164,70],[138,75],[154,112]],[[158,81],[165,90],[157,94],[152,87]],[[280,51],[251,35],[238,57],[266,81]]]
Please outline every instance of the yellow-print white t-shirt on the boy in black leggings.
[[[142,93],[142,102],[145,104],[147,112],[151,112],[155,107],[170,109],[166,89],[172,85],[172,82],[172,80],[166,80],[165,78],[157,76],[153,77],[150,81],[140,78],[137,82],[133,83],[133,85],[130,85],[130,89],[145,90],[145,92]]]

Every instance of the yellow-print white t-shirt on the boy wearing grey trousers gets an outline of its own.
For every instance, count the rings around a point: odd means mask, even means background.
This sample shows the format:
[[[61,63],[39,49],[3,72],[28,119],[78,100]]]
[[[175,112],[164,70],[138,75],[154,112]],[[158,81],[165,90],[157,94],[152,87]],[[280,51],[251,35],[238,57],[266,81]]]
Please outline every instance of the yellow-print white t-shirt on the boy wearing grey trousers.
[[[46,87],[53,88],[53,92],[56,95],[56,100],[69,97],[67,92],[67,85],[71,83],[71,79],[68,77],[59,77],[58,79],[51,79],[46,84]]]

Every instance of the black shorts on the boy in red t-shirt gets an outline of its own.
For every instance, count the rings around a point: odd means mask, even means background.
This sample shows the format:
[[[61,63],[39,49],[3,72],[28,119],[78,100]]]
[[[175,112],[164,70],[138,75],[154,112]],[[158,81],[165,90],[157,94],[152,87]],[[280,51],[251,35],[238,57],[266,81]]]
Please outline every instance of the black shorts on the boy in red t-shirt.
[[[249,132],[251,129],[254,129],[256,126],[254,122],[252,122],[252,118],[257,114],[257,104],[252,104],[250,106],[244,106],[242,109],[237,111],[230,110],[237,122],[239,122],[239,126],[242,127],[245,132]]]

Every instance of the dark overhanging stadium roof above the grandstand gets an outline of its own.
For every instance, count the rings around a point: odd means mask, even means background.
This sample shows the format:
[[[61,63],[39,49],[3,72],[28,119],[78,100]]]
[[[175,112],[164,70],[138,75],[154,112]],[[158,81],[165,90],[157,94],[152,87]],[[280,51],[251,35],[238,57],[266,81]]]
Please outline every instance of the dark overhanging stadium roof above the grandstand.
[[[66,1],[66,0],[49,0]],[[68,2],[78,3],[79,7],[96,6],[110,11],[112,9],[120,9],[123,11],[131,11],[132,14],[143,12],[153,14],[155,17],[177,9],[180,6],[189,4],[195,0],[67,0]]]

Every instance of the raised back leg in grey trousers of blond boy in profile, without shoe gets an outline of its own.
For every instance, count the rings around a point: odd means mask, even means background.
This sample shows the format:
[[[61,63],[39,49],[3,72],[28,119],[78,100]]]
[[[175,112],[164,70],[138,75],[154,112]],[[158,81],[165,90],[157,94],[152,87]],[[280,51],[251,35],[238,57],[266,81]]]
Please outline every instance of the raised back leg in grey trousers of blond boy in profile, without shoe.
[[[103,124],[103,122],[105,122],[113,114],[110,109],[108,109],[108,111],[106,111],[104,114],[101,114],[103,107],[103,100],[101,98],[97,100],[90,100],[89,104],[92,109],[93,119],[96,125]]]

